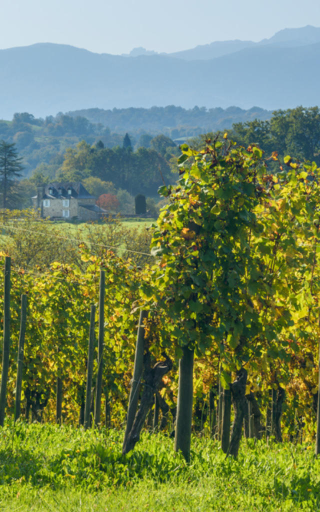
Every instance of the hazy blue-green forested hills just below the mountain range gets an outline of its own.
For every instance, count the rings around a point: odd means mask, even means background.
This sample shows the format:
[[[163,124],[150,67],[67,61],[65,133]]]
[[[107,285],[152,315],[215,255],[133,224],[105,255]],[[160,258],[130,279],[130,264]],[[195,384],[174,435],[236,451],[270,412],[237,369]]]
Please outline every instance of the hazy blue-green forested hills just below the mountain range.
[[[206,131],[230,128],[234,122],[268,119],[270,115],[271,112],[258,107],[249,111],[236,107],[185,110],[176,106],[112,111],[90,109],[45,119],[24,112],[14,114],[12,121],[0,120],[0,139],[16,144],[23,157],[24,175],[29,176],[41,163],[59,166],[66,148],[81,140],[89,144],[102,141],[105,147],[111,148],[122,146],[123,137],[129,132],[132,147],[137,150],[153,147],[151,140],[159,134],[170,139],[186,139]]]

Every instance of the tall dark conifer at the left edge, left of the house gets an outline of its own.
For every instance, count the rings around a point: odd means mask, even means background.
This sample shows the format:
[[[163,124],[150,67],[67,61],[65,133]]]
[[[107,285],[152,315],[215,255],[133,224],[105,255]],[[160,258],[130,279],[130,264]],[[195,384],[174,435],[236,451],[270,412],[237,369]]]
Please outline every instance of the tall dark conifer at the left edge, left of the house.
[[[13,206],[17,199],[17,178],[21,176],[23,169],[21,158],[18,157],[15,144],[0,142],[0,180],[2,206]]]

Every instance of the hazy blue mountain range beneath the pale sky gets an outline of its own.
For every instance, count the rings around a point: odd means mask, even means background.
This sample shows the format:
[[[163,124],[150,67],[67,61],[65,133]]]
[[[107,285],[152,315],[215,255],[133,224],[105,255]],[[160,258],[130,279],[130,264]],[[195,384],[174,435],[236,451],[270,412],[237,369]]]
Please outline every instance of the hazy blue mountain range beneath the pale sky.
[[[0,118],[89,108],[294,108],[319,103],[320,28],[284,29],[270,39],[216,41],[157,54],[97,54],[38,43],[0,50]]]

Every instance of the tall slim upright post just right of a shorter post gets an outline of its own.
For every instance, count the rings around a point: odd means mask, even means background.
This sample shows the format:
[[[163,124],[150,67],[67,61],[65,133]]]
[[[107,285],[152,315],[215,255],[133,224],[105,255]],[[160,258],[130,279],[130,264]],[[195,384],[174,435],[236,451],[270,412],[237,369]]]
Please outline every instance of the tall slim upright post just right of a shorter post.
[[[98,373],[96,384],[96,407],[94,412],[94,424],[99,426],[101,421],[101,394],[102,394],[102,372],[103,372],[103,339],[104,339],[104,294],[105,294],[105,272],[100,270],[99,287],[99,334],[98,334]]]

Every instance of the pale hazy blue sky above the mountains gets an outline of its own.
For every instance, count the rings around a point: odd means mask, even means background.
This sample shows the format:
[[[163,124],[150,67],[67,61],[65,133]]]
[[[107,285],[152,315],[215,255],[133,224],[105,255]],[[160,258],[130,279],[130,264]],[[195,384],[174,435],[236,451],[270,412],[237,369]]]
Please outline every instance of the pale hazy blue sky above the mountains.
[[[57,42],[97,53],[174,52],[320,27],[318,0],[2,0],[0,49]]]

